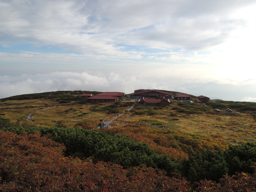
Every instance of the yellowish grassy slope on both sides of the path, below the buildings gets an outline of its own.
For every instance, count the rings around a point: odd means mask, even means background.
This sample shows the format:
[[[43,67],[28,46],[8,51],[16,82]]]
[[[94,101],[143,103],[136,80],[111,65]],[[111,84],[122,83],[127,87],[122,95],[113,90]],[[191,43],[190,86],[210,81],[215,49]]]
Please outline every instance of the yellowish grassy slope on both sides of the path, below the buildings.
[[[96,127],[99,119],[107,120],[128,109],[128,106],[133,103],[133,101],[122,99],[116,103],[81,104],[83,99],[80,98],[79,94],[82,93],[84,92],[57,91],[1,99],[0,114],[1,117],[9,118],[12,121],[26,122],[28,114],[33,113],[34,122],[30,124],[35,126],[53,127],[61,124],[65,127],[74,127],[77,123],[75,121],[90,121]],[[61,101],[68,101],[68,103],[61,103]],[[113,105],[116,105],[115,110],[108,110],[110,109],[109,106]],[[256,140],[256,123],[248,112],[243,111],[240,114],[225,111],[215,113],[199,103],[173,101],[169,107],[165,108],[136,106],[114,121],[112,127],[123,126],[127,123],[140,123],[146,127],[151,125],[159,127],[159,129],[169,128],[196,133],[224,139],[235,144],[255,142]]]

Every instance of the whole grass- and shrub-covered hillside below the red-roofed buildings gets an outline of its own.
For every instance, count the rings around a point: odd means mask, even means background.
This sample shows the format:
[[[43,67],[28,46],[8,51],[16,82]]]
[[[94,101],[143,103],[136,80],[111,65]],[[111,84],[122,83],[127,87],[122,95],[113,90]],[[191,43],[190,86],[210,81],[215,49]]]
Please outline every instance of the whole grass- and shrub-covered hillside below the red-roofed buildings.
[[[0,191],[256,191],[255,102],[97,94],[0,99]]]

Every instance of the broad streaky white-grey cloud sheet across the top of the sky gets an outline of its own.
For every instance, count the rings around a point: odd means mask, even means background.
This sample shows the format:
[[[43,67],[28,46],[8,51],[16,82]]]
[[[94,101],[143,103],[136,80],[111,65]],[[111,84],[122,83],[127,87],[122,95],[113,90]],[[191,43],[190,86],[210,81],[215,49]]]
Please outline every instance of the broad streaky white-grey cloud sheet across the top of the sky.
[[[1,43],[53,45],[89,55],[138,59],[140,53],[118,44],[204,50],[244,28],[251,16],[244,15],[249,6],[255,2],[10,0],[1,3]]]

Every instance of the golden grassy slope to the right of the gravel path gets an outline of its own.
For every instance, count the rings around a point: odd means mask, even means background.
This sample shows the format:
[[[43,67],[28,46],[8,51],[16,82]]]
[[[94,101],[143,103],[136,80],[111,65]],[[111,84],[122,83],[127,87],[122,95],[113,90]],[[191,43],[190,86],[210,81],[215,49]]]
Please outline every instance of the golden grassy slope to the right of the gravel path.
[[[185,108],[189,105],[191,104],[186,103]],[[193,105],[201,104],[194,103]],[[234,114],[225,111],[216,113],[213,110],[208,110],[202,112],[202,114],[187,114],[191,111],[185,111],[186,113],[177,112],[177,110],[173,109],[174,106],[178,106],[178,103],[173,102],[172,106],[165,108],[138,106],[134,110],[131,110],[130,113],[120,117],[118,119],[119,121],[115,123],[121,126],[123,124],[122,121],[125,121],[127,123],[150,124],[151,126],[159,127],[159,129],[163,127],[167,129],[169,127],[170,129],[187,133],[224,139],[234,144],[256,141],[255,119],[246,112]],[[170,114],[176,114],[176,116],[170,116]]]

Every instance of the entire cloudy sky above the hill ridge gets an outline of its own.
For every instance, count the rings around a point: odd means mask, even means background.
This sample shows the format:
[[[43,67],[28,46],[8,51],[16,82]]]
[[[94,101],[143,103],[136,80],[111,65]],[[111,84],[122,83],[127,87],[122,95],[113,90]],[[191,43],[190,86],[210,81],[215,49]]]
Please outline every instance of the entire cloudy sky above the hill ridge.
[[[159,89],[256,102],[255,0],[0,0],[0,98]]]

